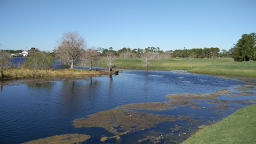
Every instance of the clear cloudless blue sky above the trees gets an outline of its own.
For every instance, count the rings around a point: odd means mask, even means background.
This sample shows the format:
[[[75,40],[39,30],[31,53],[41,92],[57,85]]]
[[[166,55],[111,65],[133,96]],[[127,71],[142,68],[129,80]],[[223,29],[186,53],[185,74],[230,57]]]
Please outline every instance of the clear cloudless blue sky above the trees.
[[[66,31],[88,46],[230,49],[256,32],[256,0],[0,0],[1,49],[52,51]]]

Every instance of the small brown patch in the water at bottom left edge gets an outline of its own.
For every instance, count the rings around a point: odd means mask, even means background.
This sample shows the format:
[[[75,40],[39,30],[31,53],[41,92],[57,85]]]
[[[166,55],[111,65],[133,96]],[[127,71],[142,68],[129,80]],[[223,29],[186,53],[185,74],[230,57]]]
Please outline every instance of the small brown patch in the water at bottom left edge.
[[[90,139],[89,135],[85,134],[63,134],[63,135],[54,135],[54,136],[49,136],[46,138],[40,138],[37,140],[32,140],[25,142],[23,144],[43,144],[43,143],[54,143],[54,144],[72,144],[72,143],[84,143],[87,140]]]

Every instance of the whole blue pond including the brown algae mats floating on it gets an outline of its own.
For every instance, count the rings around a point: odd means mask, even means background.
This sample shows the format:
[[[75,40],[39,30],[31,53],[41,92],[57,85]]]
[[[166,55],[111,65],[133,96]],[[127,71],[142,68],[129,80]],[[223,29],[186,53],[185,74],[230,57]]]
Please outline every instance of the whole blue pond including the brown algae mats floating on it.
[[[255,103],[255,91],[251,83],[185,71],[21,79],[1,85],[0,143],[68,133],[90,135],[91,143],[175,143]]]

